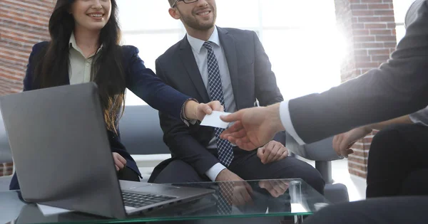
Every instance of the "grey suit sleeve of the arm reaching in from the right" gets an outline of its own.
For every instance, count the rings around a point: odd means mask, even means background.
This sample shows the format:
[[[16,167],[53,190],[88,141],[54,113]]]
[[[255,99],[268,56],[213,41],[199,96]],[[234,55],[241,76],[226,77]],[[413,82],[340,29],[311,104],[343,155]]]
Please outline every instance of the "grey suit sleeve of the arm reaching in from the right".
[[[428,105],[428,6],[417,10],[391,59],[321,94],[290,100],[292,125],[306,143]]]

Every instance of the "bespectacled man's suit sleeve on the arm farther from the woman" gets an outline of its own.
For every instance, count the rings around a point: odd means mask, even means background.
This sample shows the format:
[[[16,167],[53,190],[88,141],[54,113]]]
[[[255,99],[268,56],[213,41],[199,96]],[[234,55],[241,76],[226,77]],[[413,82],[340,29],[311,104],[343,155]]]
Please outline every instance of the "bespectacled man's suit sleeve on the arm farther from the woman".
[[[260,106],[281,102],[284,99],[282,98],[280,89],[277,87],[270,60],[255,32],[253,32],[253,36],[255,48],[255,97],[260,102]]]

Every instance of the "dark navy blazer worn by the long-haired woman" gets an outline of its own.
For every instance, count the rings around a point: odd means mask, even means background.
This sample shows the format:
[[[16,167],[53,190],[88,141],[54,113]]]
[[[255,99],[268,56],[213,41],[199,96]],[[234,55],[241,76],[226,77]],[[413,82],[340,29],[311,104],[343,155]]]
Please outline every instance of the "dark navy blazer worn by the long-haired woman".
[[[48,46],[48,42],[36,43],[29,57],[29,64],[27,65],[26,76],[24,78],[24,91],[39,89],[39,80],[34,80],[34,55],[41,52],[42,49]],[[156,77],[152,70],[144,66],[143,60],[138,57],[138,48],[134,46],[123,46],[123,70],[126,73],[126,87],[134,92],[142,100],[146,101],[148,105],[155,108],[156,110],[163,110],[173,116],[173,119],[177,119],[182,122],[181,110],[183,104],[190,97],[177,92],[173,88],[165,85],[162,80]],[[62,85],[69,85],[70,80],[68,74],[63,74]],[[108,140],[110,142],[111,151],[121,154],[126,159],[126,166],[136,171],[141,176],[140,171],[136,162],[133,160],[125,146],[121,143],[120,134],[114,134],[111,131],[107,131]],[[142,146],[143,147],[143,146]],[[96,159],[96,158],[94,158]],[[9,186],[11,190],[19,189],[19,183],[16,178],[16,174],[12,178]]]

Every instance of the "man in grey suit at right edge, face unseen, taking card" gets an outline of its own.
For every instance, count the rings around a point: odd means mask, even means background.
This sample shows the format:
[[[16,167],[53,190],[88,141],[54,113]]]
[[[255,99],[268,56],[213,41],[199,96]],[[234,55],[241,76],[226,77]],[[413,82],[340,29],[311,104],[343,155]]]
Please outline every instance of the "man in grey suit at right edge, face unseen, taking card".
[[[225,122],[235,124],[221,137],[241,149],[251,149],[269,141],[276,132],[287,130],[297,142],[305,144],[426,107],[428,0],[414,1],[407,12],[406,26],[397,50],[378,69],[321,94],[223,117]],[[389,164],[385,165],[388,169]],[[375,198],[328,206],[305,223],[427,223],[427,211],[428,196]]]

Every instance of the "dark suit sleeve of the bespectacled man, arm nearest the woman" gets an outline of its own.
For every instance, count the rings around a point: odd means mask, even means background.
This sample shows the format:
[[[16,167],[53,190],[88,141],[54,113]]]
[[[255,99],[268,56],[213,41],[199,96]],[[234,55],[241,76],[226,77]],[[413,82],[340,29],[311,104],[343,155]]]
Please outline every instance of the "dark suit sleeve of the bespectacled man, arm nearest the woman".
[[[158,60],[156,60],[156,74],[168,83]],[[163,130],[163,141],[168,145],[174,158],[190,164],[200,175],[205,175],[208,169],[219,162],[213,154],[210,154],[200,142],[190,135],[190,129],[198,129],[198,124],[188,127],[180,120],[161,111],[159,112],[159,119]]]

